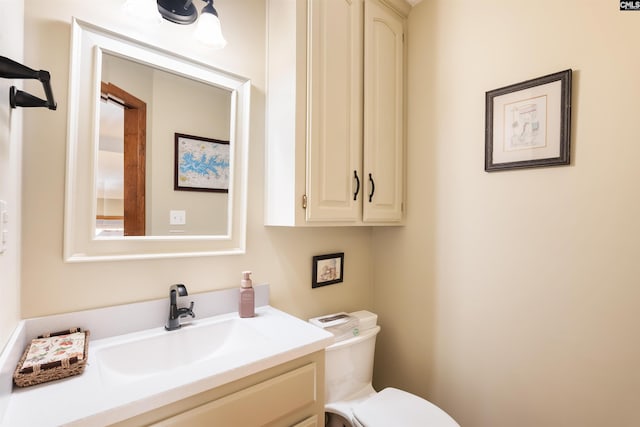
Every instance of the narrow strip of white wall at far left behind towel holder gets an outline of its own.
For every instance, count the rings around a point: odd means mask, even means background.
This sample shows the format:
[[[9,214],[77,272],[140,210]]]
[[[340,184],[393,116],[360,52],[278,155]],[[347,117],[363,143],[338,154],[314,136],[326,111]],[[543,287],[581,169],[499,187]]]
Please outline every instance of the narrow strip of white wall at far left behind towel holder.
[[[22,0],[0,0],[0,55],[22,62]],[[36,67],[34,64],[27,64]],[[0,79],[0,200],[7,202],[7,250],[0,254],[0,351],[20,319],[20,185],[22,109],[9,106],[9,88],[21,80]],[[42,90],[42,89],[40,89]],[[37,92],[41,93],[41,92]]]

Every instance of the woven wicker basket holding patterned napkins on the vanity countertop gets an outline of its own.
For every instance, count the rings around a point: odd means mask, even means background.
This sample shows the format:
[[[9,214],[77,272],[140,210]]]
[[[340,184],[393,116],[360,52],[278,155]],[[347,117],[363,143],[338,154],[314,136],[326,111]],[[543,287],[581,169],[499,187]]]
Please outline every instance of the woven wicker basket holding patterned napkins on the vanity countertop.
[[[25,362],[29,355],[29,351],[32,346],[38,343],[40,346],[46,345],[47,340],[60,340],[65,338],[65,335],[81,333],[84,335],[82,345],[83,353],[80,356],[74,355],[72,357],[57,357],[55,355],[47,354],[44,363],[30,363],[29,366],[25,366]],[[77,337],[77,336],[76,336]],[[48,347],[47,347],[48,348]],[[27,346],[16,366],[16,370],[13,373],[13,382],[18,387],[27,387],[31,385],[41,384],[47,381],[59,380],[61,378],[70,377],[72,375],[81,374],[84,371],[87,359],[89,357],[89,331],[83,331],[80,328],[72,328],[66,331],[53,332],[44,334],[31,341]]]

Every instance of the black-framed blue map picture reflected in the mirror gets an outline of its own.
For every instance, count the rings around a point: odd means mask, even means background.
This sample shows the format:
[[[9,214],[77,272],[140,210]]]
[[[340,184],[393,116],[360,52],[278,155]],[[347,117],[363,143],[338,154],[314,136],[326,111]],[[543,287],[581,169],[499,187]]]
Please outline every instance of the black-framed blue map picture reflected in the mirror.
[[[229,192],[229,141],[175,134],[174,190]]]

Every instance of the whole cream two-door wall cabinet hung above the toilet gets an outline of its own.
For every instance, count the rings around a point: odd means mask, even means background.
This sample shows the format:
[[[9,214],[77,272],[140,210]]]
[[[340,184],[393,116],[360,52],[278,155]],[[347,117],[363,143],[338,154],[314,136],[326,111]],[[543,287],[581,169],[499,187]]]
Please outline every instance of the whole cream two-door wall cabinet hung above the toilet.
[[[404,17],[269,0],[267,26],[265,224],[401,224]]]

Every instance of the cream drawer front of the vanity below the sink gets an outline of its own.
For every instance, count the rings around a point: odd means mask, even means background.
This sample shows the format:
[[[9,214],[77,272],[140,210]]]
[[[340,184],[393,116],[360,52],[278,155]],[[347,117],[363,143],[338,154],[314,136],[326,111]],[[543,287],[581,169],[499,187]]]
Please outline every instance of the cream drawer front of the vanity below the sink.
[[[263,426],[316,401],[317,367],[312,362],[220,399],[153,424],[170,426]],[[305,424],[304,425],[313,425]]]

